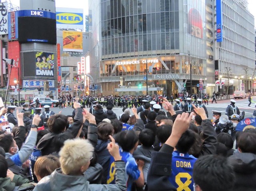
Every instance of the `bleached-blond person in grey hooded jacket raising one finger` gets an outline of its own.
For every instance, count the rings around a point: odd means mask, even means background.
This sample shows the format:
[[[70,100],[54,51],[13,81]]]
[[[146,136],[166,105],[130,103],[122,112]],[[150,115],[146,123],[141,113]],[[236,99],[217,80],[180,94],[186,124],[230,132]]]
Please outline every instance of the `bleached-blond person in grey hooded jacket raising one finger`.
[[[60,168],[56,169],[51,175],[44,177],[38,183],[34,191],[52,190],[74,190],[74,191],[124,191],[126,190],[125,163],[118,152],[119,146],[111,137],[112,142],[108,146],[110,154],[114,158],[115,184],[90,184],[85,175],[93,156],[93,146],[88,140],[80,138],[66,140],[60,150]]]

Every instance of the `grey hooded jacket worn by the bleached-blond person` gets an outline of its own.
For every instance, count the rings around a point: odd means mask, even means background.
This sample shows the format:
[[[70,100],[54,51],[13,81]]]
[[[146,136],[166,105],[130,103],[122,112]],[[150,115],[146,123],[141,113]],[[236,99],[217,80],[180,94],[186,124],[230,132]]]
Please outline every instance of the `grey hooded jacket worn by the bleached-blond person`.
[[[50,176],[46,176],[39,181],[34,191],[125,191],[126,180],[124,176],[124,161],[115,162],[116,182],[115,184],[89,184],[86,176],[71,176],[62,173],[61,169],[56,169]]]

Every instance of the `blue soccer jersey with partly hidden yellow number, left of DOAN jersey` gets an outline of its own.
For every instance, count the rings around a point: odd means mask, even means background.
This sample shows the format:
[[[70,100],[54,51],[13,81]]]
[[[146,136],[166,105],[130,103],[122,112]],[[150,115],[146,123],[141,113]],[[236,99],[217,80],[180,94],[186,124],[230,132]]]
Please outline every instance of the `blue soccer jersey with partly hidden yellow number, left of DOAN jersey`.
[[[140,177],[140,171],[138,169],[138,165],[135,161],[135,159],[132,157],[132,154],[129,152],[125,152],[122,149],[120,151],[120,156],[122,157],[122,160],[126,163],[125,165],[125,171],[127,176],[124,177],[127,180],[127,191],[132,190],[132,183],[137,180]],[[109,170],[108,170],[108,178],[107,178],[107,184],[114,184],[115,183],[115,163],[114,158],[110,157],[109,162]]]

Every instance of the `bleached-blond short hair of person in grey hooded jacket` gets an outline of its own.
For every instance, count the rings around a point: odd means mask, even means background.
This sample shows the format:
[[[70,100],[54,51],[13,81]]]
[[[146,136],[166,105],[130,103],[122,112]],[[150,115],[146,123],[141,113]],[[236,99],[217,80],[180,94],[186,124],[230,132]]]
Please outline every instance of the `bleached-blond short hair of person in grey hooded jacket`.
[[[66,140],[60,150],[60,166],[64,174],[77,175],[92,158],[94,148],[88,140],[76,138]]]

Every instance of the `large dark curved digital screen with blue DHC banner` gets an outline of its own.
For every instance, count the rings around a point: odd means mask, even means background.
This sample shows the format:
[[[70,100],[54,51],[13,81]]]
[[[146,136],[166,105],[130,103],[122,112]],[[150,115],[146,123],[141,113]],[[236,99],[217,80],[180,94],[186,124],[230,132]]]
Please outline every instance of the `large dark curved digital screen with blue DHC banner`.
[[[56,44],[56,14],[47,11],[20,10],[18,41]]]

